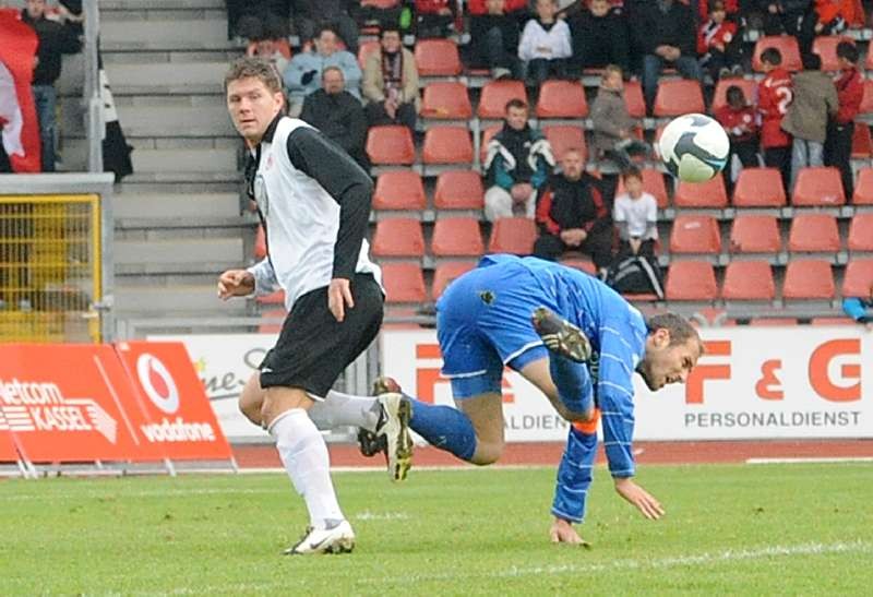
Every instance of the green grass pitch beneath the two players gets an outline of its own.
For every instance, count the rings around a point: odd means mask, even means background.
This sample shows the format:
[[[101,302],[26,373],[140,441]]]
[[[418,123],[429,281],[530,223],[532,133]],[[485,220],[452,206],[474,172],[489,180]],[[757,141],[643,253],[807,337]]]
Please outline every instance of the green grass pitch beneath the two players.
[[[870,464],[646,467],[659,522],[598,469],[589,550],[548,542],[553,478],[337,474],[357,548],[309,558],[280,475],[0,481],[0,595],[873,594]]]

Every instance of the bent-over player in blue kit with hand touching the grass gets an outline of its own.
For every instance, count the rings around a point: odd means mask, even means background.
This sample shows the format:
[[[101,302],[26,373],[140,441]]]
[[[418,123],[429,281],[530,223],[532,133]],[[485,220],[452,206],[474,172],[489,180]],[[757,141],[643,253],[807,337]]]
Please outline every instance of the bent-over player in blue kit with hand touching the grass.
[[[631,479],[632,377],[638,372],[651,390],[685,381],[703,344],[684,319],[663,314],[647,322],[593,276],[536,258],[487,255],[440,298],[436,332],[457,408],[408,398],[414,431],[463,461],[495,462],[504,445],[506,366],[583,428],[596,423],[599,406],[615,490],[649,518],[663,513]],[[362,451],[372,452],[366,443]],[[581,542],[571,523],[582,520],[596,445],[596,435],[571,428],[552,509],[554,541]]]

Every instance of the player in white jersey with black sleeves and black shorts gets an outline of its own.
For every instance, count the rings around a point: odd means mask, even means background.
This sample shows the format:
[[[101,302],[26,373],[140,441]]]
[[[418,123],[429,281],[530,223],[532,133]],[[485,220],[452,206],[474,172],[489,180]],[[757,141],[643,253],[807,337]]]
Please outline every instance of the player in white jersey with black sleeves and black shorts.
[[[282,80],[270,62],[237,60],[225,91],[230,118],[250,151],[247,182],[266,232],[267,256],[248,270],[224,272],[218,296],[282,288],[289,311],[276,346],[246,385],[240,409],[273,435],[309,511],[307,533],[286,553],[350,551],[355,534],[339,509],[327,446],[313,419],[384,435],[395,469],[408,468],[411,457],[409,405],[399,395],[328,395],[382,324],[381,272],[364,239],[372,180],[318,130],[283,115]]]

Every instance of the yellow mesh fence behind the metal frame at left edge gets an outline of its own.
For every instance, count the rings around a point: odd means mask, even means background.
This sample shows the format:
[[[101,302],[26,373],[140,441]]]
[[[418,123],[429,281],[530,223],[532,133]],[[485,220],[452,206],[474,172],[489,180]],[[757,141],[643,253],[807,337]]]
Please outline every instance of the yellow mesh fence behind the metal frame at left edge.
[[[0,342],[99,342],[100,199],[0,195]]]

